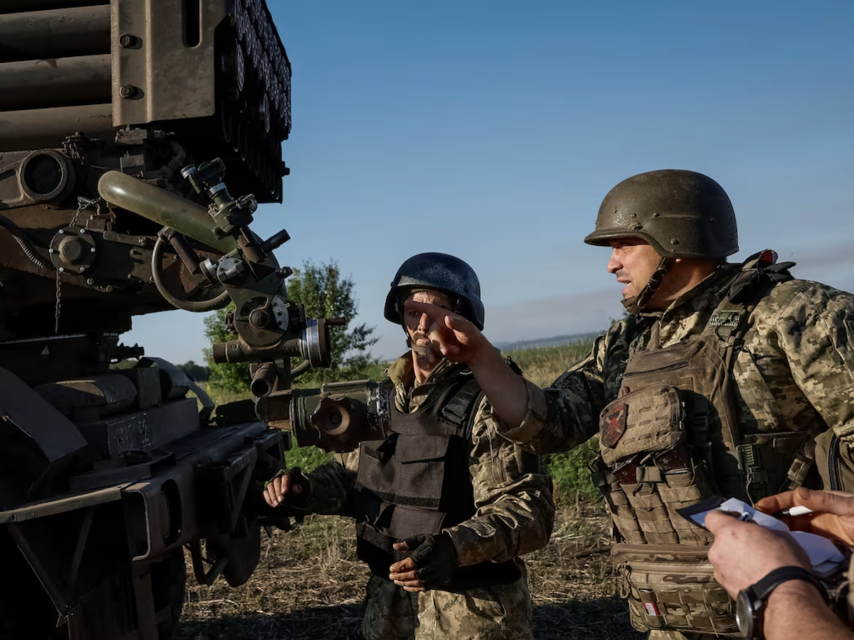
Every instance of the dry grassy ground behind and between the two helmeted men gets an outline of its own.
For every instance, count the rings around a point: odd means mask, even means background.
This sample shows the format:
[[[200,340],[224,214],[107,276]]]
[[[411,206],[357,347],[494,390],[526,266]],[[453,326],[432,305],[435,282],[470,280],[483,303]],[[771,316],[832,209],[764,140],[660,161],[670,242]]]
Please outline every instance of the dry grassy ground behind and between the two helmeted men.
[[[547,386],[590,347],[579,343],[509,355],[526,377]],[[561,488],[557,522],[548,546],[526,556],[534,630],[540,640],[642,637],[631,630],[626,606],[615,595],[607,554],[608,519],[586,470],[592,451],[588,446],[548,461]],[[323,459],[317,450],[291,454],[291,464],[308,468]],[[309,516],[293,531],[274,532],[263,545],[255,575],[239,589],[221,580],[210,588],[188,580],[179,640],[358,637],[368,571],[355,556],[352,521]]]

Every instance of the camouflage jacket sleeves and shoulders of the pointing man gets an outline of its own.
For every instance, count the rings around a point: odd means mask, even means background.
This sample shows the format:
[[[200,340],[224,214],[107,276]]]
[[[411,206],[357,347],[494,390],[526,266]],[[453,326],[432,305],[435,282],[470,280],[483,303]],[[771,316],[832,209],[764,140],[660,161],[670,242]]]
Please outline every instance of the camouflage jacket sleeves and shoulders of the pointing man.
[[[649,321],[624,318],[548,389],[528,386],[527,415],[504,434],[537,453],[565,451],[598,431],[629,356],[660,323],[661,346],[700,334],[741,268],[723,265]],[[830,428],[854,440],[854,296],[805,280],[776,284],[755,306],[733,369],[743,434]]]

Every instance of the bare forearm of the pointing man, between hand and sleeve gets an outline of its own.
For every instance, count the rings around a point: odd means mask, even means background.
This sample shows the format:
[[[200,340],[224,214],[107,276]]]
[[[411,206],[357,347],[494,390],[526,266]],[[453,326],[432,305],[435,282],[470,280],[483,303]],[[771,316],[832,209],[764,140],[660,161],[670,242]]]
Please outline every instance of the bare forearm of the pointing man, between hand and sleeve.
[[[485,349],[481,357],[469,363],[486,399],[508,429],[515,429],[528,411],[528,389],[495,348]]]

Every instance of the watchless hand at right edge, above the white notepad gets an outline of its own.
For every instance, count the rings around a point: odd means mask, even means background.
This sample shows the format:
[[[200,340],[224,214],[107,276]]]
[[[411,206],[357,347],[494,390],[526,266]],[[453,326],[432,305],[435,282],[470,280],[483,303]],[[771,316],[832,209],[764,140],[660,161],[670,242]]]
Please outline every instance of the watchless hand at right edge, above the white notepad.
[[[770,514],[797,506],[812,509],[813,513],[781,518],[790,529],[815,533],[849,547],[854,546],[854,494],[800,487],[756,503],[758,509]]]

